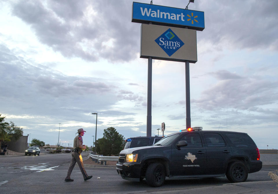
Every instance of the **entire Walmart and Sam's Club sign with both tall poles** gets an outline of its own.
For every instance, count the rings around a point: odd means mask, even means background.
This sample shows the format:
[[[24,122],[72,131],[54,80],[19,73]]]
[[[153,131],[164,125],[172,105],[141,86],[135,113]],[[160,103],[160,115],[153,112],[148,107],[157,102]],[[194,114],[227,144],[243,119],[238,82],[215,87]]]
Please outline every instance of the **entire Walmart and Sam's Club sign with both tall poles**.
[[[131,22],[142,23],[140,58],[148,59],[147,136],[151,136],[152,59],[185,63],[186,128],[191,127],[189,63],[197,62],[196,30],[203,31],[205,24],[204,12],[188,10],[187,6],[132,5]]]

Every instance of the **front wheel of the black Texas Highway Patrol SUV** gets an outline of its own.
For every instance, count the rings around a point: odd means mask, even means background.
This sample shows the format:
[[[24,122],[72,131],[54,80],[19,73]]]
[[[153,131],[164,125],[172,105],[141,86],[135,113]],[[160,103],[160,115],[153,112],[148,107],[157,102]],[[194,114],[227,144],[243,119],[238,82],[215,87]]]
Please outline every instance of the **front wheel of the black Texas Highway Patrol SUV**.
[[[151,163],[146,171],[146,182],[152,187],[160,187],[165,180],[165,169],[160,163]]]

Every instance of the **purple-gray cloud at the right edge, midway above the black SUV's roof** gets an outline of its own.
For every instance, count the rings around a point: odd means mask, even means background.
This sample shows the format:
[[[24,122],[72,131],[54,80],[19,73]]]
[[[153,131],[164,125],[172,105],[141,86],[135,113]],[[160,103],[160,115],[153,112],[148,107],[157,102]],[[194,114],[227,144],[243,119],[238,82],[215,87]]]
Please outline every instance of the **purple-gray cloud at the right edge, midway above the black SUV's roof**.
[[[218,74],[220,73],[220,74]],[[238,79],[241,76],[225,72],[229,80],[222,77],[222,71],[211,75],[222,80],[218,81],[211,88],[202,92],[200,99],[191,99],[191,103],[207,110],[214,110],[217,107],[226,107],[239,110],[248,110],[254,106],[272,104],[277,101],[278,82],[267,81],[256,78]],[[217,75],[218,74],[218,75]]]

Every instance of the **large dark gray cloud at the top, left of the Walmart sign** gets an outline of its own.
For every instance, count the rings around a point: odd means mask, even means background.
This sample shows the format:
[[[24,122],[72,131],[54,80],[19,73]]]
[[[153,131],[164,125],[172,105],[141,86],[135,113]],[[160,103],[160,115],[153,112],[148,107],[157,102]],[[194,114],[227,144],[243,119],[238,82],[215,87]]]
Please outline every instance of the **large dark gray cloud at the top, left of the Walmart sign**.
[[[18,1],[13,14],[31,25],[43,44],[66,57],[116,62],[134,59],[138,52],[134,45],[139,44],[140,26],[126,25],[131,7],[124,1]]]

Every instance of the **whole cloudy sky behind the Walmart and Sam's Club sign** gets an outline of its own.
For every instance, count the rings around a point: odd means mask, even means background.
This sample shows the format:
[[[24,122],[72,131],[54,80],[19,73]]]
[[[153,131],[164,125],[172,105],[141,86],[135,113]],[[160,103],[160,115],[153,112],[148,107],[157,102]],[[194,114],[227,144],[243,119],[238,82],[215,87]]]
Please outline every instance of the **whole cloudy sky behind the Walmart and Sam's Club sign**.
[[[260,149],[278,148],[277,7],[277,0],[189,4],[205,17],[190,63],[192,127],[242,131]],[[82,127],[91,146],[95,112],[97,139],[107,127],[145,136],[148,62],[131,10],[129,0],[0,1],[0,114],[46,144],[72,144]],[[185,129],[185,118],[185,64],[153,60],[152,135],[162,122],[164,134]]]

